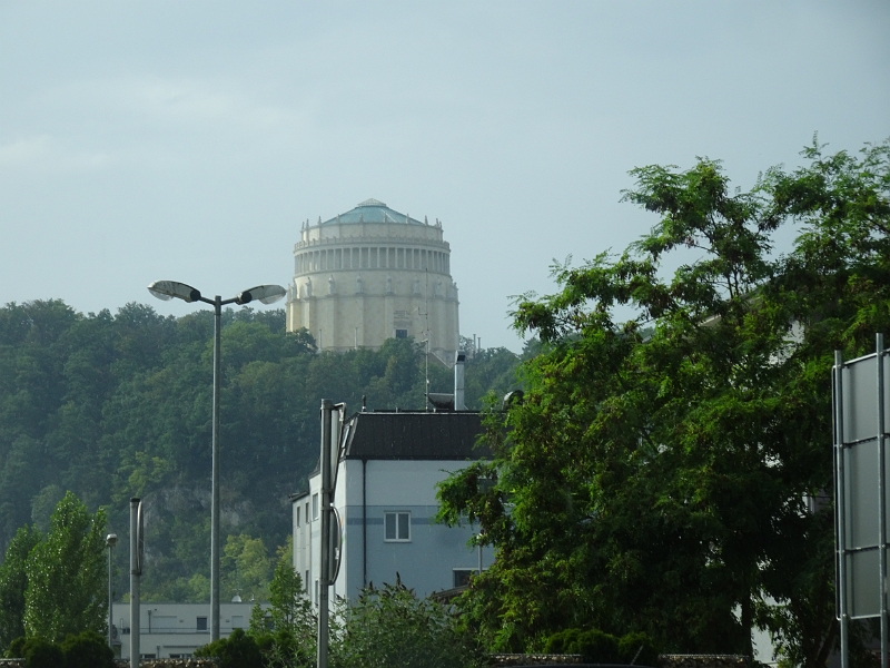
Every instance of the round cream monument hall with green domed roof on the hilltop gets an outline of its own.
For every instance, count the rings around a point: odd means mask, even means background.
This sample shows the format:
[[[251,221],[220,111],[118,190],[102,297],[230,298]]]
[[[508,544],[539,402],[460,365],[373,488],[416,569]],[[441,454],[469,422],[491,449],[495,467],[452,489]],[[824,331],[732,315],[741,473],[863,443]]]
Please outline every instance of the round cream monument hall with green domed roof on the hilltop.
[[[287,328],[306,327],[320,351],[429,341],[449,366],[458,343],[457,284],[442,224],[368,199],[316,225],[294,246]]]

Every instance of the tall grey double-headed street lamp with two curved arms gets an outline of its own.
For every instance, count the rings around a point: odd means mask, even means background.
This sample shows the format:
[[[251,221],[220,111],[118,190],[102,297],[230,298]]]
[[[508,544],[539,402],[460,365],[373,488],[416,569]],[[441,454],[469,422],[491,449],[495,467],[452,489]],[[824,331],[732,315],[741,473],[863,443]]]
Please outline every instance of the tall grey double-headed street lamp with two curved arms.
[[[219,321],[226,304],[249,304],[253,301],[271,304],[287,294],[280,285],[258,285],[239,292],[230,299],[216,295],[212,299],[200,291],[176,281],[156,281],[148,292],[164,299],[174,297],[184,302],[204,302],[214,307],[214,414],[212,414],[212,477],[210,494],[210,641],[219,640],[219,385],[222,373],[219,363]]]

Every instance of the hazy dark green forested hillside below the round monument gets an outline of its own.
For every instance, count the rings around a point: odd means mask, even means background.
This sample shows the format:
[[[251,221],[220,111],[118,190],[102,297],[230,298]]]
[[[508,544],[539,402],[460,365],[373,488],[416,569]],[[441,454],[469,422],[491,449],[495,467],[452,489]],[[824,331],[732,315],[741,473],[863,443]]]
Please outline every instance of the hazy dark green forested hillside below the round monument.
[[[209,598],[212,327],[209,311],[162,317],[140,304],[0,308],[0,553],[18,528],[46,530],[71,490],[108,508],[125,592],[128,500],[141,497],[146,600]],[[317,354],[307,333],[285,333],[283,311],[250,308],[224,313],[221,350],[222,596],[260,598],[289,528],[287,495],[318,454],[320,400],[422,407],[424,353],[390,340]],[[516,365],[503,348],[471,357],[467,405],[512,387]],[[451,370],[431,363],[429,376],[433,391],[451,391]]]

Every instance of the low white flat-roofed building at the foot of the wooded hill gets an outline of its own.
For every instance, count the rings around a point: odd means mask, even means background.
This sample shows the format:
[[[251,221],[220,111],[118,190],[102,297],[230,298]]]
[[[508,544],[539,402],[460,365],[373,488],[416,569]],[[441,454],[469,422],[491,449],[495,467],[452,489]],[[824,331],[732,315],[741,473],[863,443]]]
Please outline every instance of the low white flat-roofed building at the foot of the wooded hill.
[[[268,603],[260,603],[268,609]],[[219,637],[250,625],[253,602],[219,605]],[[139,650],[144,659],[188,658],[210,642],[210,603],[141,603],[139,606]],[[120,642],[115,654],[130,656],[130,605],[111,606],[115,638]]]

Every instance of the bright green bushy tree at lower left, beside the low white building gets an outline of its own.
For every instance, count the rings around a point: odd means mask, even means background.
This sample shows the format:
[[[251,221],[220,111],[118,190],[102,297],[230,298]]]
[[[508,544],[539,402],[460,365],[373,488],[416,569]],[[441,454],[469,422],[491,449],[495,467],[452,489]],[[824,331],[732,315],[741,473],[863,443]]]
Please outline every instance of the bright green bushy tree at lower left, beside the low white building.
[[[105,511],[92,517],[71,492],[59,501],[43,541],[30,552],[24,630],[52,641],[106,628]]]

